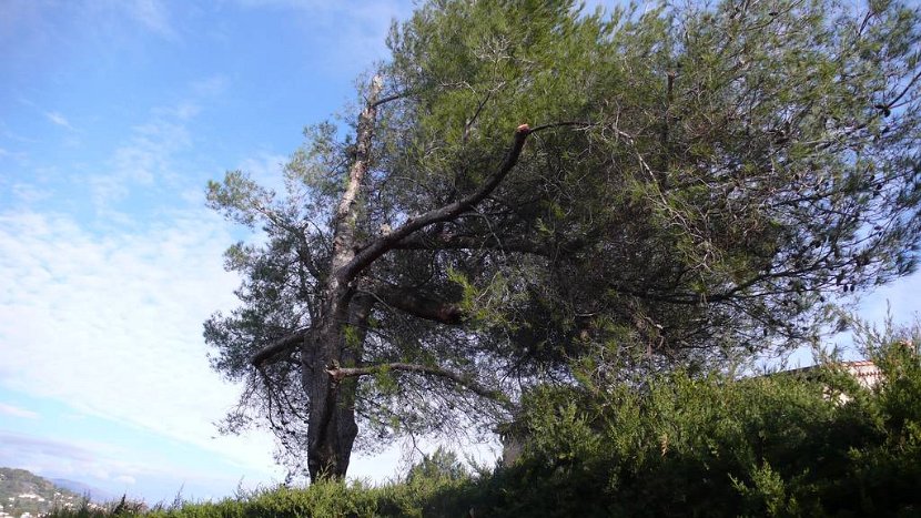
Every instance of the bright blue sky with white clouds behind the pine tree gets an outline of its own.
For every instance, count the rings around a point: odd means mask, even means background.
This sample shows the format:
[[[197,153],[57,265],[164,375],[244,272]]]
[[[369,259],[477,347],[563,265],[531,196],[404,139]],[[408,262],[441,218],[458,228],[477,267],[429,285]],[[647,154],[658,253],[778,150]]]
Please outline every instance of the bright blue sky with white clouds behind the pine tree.
[[[266,183],[354,99],[403,0],[0,0],[0,466],[148,501],[270,485],[264,433],[221,437],[239,387],[201,324],[235,305],[239,230],[204,185]],[[921,308],[919,277],[863,314]],[[357,458],[382,480],[398,451]]]

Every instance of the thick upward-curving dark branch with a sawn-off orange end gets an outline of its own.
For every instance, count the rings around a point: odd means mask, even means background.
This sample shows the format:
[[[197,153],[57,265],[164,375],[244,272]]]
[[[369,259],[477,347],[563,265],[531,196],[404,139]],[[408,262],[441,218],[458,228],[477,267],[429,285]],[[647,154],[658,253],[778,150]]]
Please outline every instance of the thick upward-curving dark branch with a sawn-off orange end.
[[[403,225],[388,234],[382,235],[364,250],[358,252],[352,261],[344,265],[338,272],[336,272],[336,274],[338,274],[343,281],[351,281],[377,257],[392,250],[401,240],[409,236],[416,231],[425,228],[428,225],[438,222],[452,221],[462,213],[473,209],[476,204],[486,199],[489,193],[495,191],[505,176],[512,171],[513,167],[515,167],[515,164],[518,163],[518,158],[522,155],[522,149],[525,146],[525,141],[530,133],[532,129],[527,124],[522,124],[515,130],[515,135],[512,139],[512,146],[508,149],[502,164],[499,164],[499,167],[490,174],[485,182],[483,182],[476,192],[464,196],[454,203],[428,211],[419,216],[409,217]]]

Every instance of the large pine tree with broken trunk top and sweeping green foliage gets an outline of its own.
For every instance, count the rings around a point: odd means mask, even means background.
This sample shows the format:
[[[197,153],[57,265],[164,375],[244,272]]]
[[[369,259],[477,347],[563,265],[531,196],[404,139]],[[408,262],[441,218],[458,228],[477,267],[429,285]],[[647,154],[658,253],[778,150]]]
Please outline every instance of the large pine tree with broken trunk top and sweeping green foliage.
[[[265,233],[205,323],[246,383],[227,428],[265,418],[282,461],[341,477],[360,424],[368,447],[488,425],[574,359],[616,377],[812,339],[831,297],[914,267],[918,20],[425,3],[354,136],[311,128],[284,195],[209,186]]]

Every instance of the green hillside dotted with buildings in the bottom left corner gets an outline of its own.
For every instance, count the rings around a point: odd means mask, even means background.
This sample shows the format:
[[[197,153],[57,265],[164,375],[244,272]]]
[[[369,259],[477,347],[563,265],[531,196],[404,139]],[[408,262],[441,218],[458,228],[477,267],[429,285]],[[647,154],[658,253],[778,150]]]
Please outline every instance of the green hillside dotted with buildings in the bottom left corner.
[[[38,516],[52,508],[79,508],[83,496],[24,469],[0,468],[0,517]]]

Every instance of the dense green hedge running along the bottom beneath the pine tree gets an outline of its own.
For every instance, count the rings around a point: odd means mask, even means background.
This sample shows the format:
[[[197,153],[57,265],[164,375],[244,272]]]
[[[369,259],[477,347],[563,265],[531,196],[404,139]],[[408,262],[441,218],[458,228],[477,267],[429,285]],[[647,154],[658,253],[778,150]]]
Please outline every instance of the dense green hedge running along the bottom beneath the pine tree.
[[[672,373],[642,385],[525,398],[524,454],[472,476],[444,451],[399,484],[325,483],[144,514],[163,517],[918,516],[918,342],[873,351],[884,380],[827,367],[732,380]],[[61,511],[60,517],[130,516]]]

